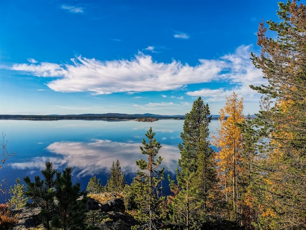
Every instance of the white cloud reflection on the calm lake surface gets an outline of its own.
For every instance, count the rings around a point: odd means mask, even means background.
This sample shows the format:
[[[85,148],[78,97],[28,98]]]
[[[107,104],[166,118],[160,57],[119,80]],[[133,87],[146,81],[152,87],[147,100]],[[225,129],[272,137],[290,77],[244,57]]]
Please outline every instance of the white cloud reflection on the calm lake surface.
[[[59,155],[58,157],[36,157],[31,161],[12,163],[11,165],[18,169],[42,169],[46,161],[52,161],[55,168],[69,165],[80,169],[79,176],[85,176],[94,175],[103,170],[101,165],[108,165],[104,170],[109,171],[112,162],[118,159],[123,171],[126,173],[136,172],[139,170],[135,164],[135,161],[140,159],[139,145],[138,142],[117,142],[104,139],[95,139],[90,142],[54,142],[46,149]],[[178,148],[163,144],[159,150],[159,155],[163,156],[161,167],[174,172],[177,167],[177,160],[180,157]]]

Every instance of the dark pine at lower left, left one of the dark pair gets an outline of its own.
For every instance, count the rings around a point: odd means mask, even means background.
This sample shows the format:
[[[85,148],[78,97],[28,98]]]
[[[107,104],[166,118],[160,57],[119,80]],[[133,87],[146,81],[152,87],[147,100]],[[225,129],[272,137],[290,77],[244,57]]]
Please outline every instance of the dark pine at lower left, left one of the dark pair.
[[[51,221],[52,215],[51,211],[54,208],[54,176],[56,170],[53,169],[52,162],[45,163],[45,169],[42,170],[42,175],[44,180],[41,180],[40,176],[35,176],[35,181],[31,182],[30,178],[26,176],[23,178],[27,186],[27,195],[30,199],[33,200],[35,205],[42,207],[41,216],[46,222],[47,230],[50,230],[49,222]]]

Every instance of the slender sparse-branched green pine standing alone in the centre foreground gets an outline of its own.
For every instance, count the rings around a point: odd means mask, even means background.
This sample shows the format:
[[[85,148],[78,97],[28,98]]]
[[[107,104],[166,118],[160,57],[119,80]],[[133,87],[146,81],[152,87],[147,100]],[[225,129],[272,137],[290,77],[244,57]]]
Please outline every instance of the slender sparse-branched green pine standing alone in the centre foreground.
[[[161,164],[162,158],[157,154],[161,145],[156,138],[152,128],[146,133],[148,143],[143,138],[140,146],[141,153],[148,157],[148,161],[140,159],[136,161],[137,166],[141,171],[138,171],[138,176],[134,179],[135,203],[137,204],[137,214],[135,219],[140,222],[140,226],[134,226],[133,229],[156,230],[159,229],[159,210],[160,203],[164,200],[160,192],[162,187],[161,181],[164,179],[164,168],[157,171],[157,167]],[[157,159],[156,159],[157,158]]]

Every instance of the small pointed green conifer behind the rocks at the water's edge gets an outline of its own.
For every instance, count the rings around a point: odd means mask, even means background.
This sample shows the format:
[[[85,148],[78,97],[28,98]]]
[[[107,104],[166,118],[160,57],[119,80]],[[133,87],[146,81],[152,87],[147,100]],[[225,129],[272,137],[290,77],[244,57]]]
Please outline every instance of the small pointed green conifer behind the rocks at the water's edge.
[[[126,180],[123,171],[121,170],[119,160],[117,160],[116,163],[112,162],[108,175],[107,190],[109,192],[122,192],[125,184]]]

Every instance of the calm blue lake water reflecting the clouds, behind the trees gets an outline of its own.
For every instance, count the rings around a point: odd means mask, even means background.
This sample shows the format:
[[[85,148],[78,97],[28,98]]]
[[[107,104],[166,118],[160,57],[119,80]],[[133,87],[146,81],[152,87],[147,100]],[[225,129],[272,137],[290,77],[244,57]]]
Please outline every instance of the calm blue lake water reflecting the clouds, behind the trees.
[[[145,156],[139,146],[146,132],[152,127],[155,138],[162,145],[159,155],[161,167],[167,174],[175,174],[180,154],[180,133],[184,120],[162,119],[154,122],[102,121],[102,120],[0,120],[0,132],[7,140],[8,152],[17,157],[9,159],[0,169],[2,186],[15,184],[19,177],[40,175],[46,161],[52,161],[58,170],[73,168],[73,182],[80,182],[85,190],[89,178],[97,176],[105,185],[112,161],[120,161],[128,183],[138,170],[136,160]],[[219,121],[212,120],[210,131],[216,132]],[[0,198],[1,199],[1,198]],[[2,201],[7,199],[2,196]]]

